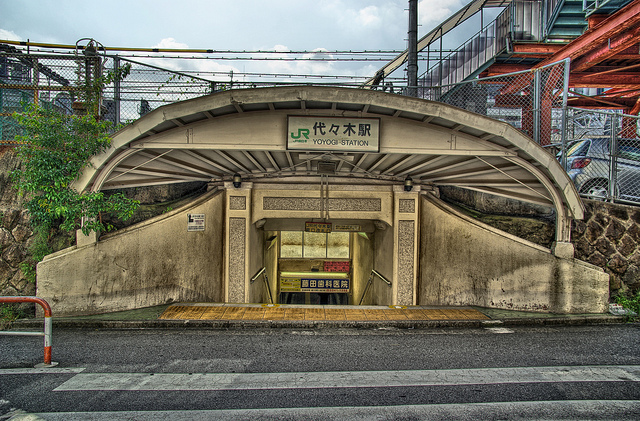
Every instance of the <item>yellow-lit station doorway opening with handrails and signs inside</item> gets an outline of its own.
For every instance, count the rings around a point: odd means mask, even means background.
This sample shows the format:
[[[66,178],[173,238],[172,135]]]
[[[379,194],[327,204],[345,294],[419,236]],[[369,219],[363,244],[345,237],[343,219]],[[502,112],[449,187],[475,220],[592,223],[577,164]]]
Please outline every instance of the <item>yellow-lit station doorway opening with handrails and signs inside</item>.
[[[371,221],[323,222],[327,232],[305,230],[307,221],[269,222],[264,262],[275,304],[373,304],[372,290],[365,291],[373,269]]]

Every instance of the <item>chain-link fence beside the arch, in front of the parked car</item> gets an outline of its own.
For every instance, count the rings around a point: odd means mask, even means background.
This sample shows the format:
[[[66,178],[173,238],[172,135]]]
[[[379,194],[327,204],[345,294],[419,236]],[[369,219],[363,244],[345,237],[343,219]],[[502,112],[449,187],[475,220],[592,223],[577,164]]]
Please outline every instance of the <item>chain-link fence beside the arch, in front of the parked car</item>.
[[[556,156],[581,196],[640,204],[639,118],[567,107],[568,72],[564,61],[454,85],[421,86],[419,93],[521,130]]]

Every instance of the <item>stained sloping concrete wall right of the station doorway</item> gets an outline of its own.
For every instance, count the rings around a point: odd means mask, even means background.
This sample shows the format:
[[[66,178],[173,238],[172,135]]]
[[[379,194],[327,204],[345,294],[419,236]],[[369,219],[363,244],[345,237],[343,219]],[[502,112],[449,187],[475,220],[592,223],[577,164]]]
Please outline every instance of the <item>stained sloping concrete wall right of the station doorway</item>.
[[[420,202],[418,304],[606,311],[609,276],[600,268],[476,223],[433,196]]]

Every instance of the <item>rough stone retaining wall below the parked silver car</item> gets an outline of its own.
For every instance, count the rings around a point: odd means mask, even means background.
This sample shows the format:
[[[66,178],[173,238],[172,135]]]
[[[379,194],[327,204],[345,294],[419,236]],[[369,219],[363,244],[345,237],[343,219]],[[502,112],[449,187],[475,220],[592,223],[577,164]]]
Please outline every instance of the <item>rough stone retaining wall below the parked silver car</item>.
[[[585,200],[585,218],[574,221],[576,258],[610,275],[611,295],[640,289],[640,208]]]

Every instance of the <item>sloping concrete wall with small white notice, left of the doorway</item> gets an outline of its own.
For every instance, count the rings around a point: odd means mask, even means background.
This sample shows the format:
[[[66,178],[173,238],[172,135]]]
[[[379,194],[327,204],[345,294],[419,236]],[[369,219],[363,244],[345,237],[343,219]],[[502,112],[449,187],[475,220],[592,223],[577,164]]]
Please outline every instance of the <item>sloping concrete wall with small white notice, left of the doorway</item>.
[[[38,264],[38,295],[56,316],[100,313],[172,301],[222,301],[223,192],[72,247]],[[205,230],[187,232],[187,214]]]

